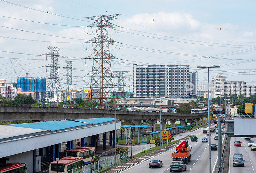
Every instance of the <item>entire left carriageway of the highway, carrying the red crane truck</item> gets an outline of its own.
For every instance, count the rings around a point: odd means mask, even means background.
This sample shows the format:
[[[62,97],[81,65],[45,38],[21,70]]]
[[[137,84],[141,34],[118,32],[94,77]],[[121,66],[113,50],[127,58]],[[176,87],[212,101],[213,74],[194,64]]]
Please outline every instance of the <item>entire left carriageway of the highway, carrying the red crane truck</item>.
[[[198,142],[190,142],[188,141],[188,144],[191,145],[193,148],[191,149],[191,161],[187,164],[187,171],[185,172],[191,172],[191,173],[197,173],[198,170],[202,173],[208,173],[209,172],[209,142],[201,142],[202,137],[205,137],[206,134],[202,133],[203,129],[198,129],[194,132],[191,132],[189,135],[196,135],[198,137]],[[187,134],[188,135],[188,134]],[[212,133],[212,143],[218,144],[218,141],[214,141],[214,136],[216,133]],[[130,169],[124,170],[125,173],[134,173],[134,172],[147,172],[147,173],[155,173],[155,172],[170,172],[169,166],[172,162],[171,154],[175,151],[175,148],[172,150],[169,150],[167,152],[164,152],[161,155],[158,155],[148,161],[142,162]],[[212,169],[214,169],[214,164],[216,162],[216,159],[218,157],[218,151],[212,151]],[[151,160],[161,160],[163,162],[162,168],[148,168],[148,163]],[[123,172],[124,172],[123,171]]]

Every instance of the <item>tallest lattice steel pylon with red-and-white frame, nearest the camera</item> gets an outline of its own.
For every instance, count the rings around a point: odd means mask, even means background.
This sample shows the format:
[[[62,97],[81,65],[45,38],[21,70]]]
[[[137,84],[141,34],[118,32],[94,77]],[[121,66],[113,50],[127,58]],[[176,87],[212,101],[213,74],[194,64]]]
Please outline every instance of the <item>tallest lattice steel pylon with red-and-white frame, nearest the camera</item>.
[[[111,71],[111,60],[116,57],[109,52],[109,44],[114,44],[116,41],[108,37],[108,28],[115,27],[109,20],[116,19],[116,16],[118,14],[87,17],[95,21],[87,27],[96,28],[96,36],[85,42],[94,44],[93,54],[86,58],[93,60],[88,107],[103,108],[104,103],[106,107],[107,105],[114,106],[113,103],[116,103]],[[112,100],[112,102],[108,103],[107,100]]]

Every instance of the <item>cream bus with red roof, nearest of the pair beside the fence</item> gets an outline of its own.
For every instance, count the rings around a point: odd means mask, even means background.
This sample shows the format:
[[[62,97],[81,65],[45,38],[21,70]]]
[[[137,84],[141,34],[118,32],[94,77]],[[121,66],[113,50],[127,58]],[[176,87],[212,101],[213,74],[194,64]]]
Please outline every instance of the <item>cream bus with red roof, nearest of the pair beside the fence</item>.
[[[82,157],[63,157],[58,161],[51,162],[49,173],[66,172],[83,166]]]

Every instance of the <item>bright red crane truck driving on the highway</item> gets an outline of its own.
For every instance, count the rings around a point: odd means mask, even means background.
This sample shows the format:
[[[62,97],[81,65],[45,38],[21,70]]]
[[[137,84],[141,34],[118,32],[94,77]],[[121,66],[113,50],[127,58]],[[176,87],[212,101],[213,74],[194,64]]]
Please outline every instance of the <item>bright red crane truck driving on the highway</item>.
[[[188,164],[188,162],[191,159],[191,146],[188,145],[188,141],[183,141],[181,142],[175,152],[172,153],[172,161],[177,161],[177,160],[181,160],[184,163]]]

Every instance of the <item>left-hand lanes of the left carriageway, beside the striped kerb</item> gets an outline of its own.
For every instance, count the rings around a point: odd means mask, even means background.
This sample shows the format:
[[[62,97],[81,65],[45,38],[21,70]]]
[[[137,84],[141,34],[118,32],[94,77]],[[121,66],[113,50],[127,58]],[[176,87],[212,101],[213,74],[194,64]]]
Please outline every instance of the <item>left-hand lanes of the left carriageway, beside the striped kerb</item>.
[[[191,133],[191,135],[196,135],[198,137],[199,141],[198,142],[190,142],[190,139],[188,140],[189,145],[191,145],[193,148],[191,150],[191,155],[192,155],[191,161],[188,162],[187,170],[190,169],[193,166],[193,164],[196,162],[196,158],[198,157],[197,155],[201,154],[203,152],[204,148],[202,147],[202,145],[207,145],[206,143],[202,143],[200,140],[202,137],[204,137],[206,135],[206,134],[202,133],[202,130],[199,133],[195,133],[195,131],[194,131],[194,133]],[[164,173],[166,173],[166,172],[169,172],[170,171],[169,167],[170,167],[170,164],[172,163],[171,155],[174,151],[175,151],[175,148],[163,153],[162,155],[158,155],[155,158],[152,158],[148,161],[142,162],[142,163],[140,163],[130,169],[127,169],[125,171],[128,173],[134,173],[134,172],[147,172],[147,173],[164,172]],[[161,169],[160,168],[150,168],[149,169],[148,163],[151,160],[162,161],[163,167]]]

